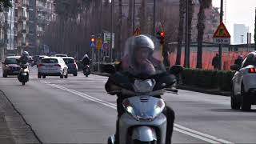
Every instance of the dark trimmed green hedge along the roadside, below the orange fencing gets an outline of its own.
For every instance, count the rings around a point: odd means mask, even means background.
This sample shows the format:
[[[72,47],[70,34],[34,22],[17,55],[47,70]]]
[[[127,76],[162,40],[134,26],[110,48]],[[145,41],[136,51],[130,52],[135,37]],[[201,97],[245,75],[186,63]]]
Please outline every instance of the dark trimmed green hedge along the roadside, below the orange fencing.
[[[230,91],[233,75],[234,72],[232,71],[184,69],[182,71],[182,84],[204,89]]]

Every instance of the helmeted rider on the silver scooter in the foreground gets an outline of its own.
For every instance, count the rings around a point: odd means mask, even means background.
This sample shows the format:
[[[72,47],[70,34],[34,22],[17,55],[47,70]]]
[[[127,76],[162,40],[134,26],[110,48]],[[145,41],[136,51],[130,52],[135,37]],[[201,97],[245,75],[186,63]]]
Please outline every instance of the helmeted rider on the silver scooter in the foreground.
[[[132,78],[132,75],[141,75],[142,77],[152,76],[159,74],[158,72],[165,67],[162,65],[161,59],[154,58],[154,42],[151,38],[146,35],[139,35],[132,38],[132,42],[126,42],[130,45],[130,50],[125,51],[125,56],[122,58],[121,63],[119,64],[119,72],[127,74],[127,77]],[[129,41],[129,39],[127,40]],[[160,56],[161,57],[161,56]],[[114,86],[113,82],[109,79],[106,82],[106,91],[110,91],[111,86]],[[118,110],[118,119],[125,113],[125,110],[122,106],[122,101],[127,98],[122,94],[117,94],[117,110]],[[161,98],[160,95],[155,97]],[[171,143],[171,137],[174,127],[174,110],[166,106],[164,112],[167,118],[167,131],[166,131],[166,144]],[[118,142],[118,121],[116,126],[115,138]]]

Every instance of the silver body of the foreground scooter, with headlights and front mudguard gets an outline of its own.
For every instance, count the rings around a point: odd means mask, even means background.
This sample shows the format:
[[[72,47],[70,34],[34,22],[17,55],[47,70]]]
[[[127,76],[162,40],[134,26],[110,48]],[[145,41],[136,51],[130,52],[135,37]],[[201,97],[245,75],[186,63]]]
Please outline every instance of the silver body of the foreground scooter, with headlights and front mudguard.
[[[144,85],[141,84],[140,86]],[[154,84],[150,86],[153,87]],[[138,89],[134,88],[138,92]],[[162,114],[166,105],[161,98],[155,98],[153,95],[156,94],[151,95],[149,92],[123,100],[122,105],[126,113],[119,118],[119,144],[140,142],[164,144],[166,142],[167,119]],[[114,136],[108,139],[109,144],[114,144],[114,141]]]

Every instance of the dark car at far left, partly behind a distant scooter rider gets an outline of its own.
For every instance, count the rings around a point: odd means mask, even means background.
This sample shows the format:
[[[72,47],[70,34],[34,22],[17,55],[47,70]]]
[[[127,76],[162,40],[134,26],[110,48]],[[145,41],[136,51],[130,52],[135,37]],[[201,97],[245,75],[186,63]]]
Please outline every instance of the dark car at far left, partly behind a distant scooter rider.
[[[2,77],[7,78],[8,75],[18,75],[20,66],[18,65],[17,59],[20,56],[6,57],[5,61],[2,62]]]

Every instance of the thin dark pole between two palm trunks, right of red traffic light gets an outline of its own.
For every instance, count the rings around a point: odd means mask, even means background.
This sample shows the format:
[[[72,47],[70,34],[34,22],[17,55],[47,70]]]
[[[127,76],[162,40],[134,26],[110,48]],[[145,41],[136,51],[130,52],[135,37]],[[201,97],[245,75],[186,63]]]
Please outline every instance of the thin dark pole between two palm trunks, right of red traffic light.
[[[189,67],[189,0],[186,0],[186,29],[185,29],[185,62],[184,66]]]

